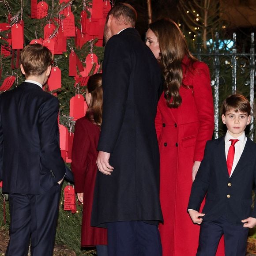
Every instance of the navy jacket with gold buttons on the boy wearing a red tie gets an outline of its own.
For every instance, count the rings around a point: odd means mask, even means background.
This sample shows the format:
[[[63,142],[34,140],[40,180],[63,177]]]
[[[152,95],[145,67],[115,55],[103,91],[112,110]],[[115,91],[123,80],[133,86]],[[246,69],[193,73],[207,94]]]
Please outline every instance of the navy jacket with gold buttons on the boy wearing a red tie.
[[[206,195],[202,213],[204,221],[214,221],[224,214],[228,222],[240,225],[241,220],[256,218],[252,211],[252,189],[256,184],[256,144],[247,138],[231,177],[228,175],[225,154],[225,139],[208,141],[204,158],[192,184],[188,209],[199,211]]]

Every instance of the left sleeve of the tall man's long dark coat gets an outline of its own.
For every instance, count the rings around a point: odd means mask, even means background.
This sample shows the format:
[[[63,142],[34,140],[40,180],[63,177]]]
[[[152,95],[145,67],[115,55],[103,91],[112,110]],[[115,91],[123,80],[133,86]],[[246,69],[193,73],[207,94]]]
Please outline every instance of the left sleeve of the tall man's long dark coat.
[[[112,153],[120,134],[132,71],[131,54],[129,45],[120,35],[109,39],[103,61],[103,111],[98,151]]]

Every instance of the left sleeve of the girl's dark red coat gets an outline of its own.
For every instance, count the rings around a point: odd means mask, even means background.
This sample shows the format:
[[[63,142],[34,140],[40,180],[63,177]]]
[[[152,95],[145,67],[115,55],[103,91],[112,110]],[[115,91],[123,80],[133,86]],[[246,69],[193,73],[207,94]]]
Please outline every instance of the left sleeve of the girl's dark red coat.
[[[90,139],[86,125],[83,123],[83,120],[78,119],[75,122],[71,163],[71,169],[75,179],[75,192],[77,193],[82,193],[84,191],[87,156],[90,147]]]

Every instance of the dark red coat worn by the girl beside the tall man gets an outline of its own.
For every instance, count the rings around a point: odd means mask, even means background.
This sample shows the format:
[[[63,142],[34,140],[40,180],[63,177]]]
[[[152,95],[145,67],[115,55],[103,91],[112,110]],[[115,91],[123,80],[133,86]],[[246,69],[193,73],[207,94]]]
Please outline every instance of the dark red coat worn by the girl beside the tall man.
[[[107,244],[107,230],[90,226],[96,173],[97,145],[100,129],[86,117],[75,122],[75,134],[72,147],[72,172],[75,179],[75,192],[83,192],[83,219],[81,246]]]

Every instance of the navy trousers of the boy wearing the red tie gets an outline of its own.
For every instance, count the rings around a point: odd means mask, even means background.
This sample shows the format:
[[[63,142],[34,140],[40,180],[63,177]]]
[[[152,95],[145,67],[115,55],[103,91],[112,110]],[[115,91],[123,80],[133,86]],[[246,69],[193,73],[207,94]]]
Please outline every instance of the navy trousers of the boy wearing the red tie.
[[[202,222],[196,256],[215,256],[222,235],[225,256],[245,256],[248,228],[232,225],[224,217],[213,222]]]

